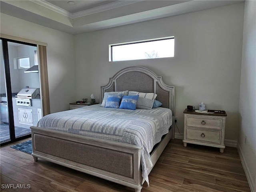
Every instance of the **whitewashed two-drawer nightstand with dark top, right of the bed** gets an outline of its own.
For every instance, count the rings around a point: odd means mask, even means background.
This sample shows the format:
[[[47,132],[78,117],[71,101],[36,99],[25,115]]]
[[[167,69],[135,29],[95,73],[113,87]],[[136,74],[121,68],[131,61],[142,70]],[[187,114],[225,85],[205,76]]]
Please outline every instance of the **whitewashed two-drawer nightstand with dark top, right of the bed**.
[[[184,110],[184,147],[187,143],[220,148],[224,152],[226,112],[203,114]]]

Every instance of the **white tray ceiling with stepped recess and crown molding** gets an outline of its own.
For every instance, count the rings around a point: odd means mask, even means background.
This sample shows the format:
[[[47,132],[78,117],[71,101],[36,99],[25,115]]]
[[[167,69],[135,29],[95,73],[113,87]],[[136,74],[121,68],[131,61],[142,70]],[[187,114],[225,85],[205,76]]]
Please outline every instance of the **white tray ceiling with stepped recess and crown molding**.
[[[240,2],[244,0],[0,0],[0,12],[80,34]]]

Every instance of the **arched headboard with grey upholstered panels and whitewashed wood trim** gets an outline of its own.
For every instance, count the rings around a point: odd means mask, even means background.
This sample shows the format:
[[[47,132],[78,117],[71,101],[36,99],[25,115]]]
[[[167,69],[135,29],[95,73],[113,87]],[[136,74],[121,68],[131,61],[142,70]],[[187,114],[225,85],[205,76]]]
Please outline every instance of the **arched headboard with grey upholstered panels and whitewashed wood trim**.
[[[101,100],[105,92],[125,90],[157,94],[156,100],[170,108],[174,116],[174,86],[164,84],[162,77],[151,70],[140,66],[120,70],[101,87]]]

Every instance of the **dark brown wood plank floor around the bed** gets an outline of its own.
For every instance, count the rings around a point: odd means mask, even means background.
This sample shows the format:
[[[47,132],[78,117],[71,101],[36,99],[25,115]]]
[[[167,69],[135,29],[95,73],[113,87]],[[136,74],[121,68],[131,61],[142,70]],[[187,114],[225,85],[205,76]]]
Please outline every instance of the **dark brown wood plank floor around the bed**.
[[[29,139],[26,139],[29,140]],[[24,142],[22,140],[19,142]],[[14,143],[17,144],[18,142]],[[14,192],[134,192],[109,182],[38,158],[10,146],[1,147],[2,184],[30,184]],[[250,192],[236,148],[218,148],[171,140],[149,175],[150,187],[142,192]]]

